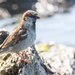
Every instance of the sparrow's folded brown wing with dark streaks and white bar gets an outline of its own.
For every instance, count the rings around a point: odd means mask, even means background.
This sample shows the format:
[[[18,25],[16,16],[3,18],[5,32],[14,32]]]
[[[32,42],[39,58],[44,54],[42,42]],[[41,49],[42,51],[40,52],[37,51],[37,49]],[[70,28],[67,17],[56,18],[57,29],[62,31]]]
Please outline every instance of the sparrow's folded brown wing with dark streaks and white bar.
[[[1,48],[14,46],[27,37],[27,29],[24,27],[16,27],[13,32],[2,43]]]

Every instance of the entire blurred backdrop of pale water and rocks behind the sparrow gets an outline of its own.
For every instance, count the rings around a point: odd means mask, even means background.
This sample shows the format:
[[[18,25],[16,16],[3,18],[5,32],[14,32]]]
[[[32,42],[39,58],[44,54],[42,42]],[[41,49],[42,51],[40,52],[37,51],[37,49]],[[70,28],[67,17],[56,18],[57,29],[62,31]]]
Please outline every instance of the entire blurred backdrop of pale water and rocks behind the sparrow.
[[[75,46],[75,0],[0,0],[0,28],[10,33],[26,10],[35,10],[36,42],[56,41]]]

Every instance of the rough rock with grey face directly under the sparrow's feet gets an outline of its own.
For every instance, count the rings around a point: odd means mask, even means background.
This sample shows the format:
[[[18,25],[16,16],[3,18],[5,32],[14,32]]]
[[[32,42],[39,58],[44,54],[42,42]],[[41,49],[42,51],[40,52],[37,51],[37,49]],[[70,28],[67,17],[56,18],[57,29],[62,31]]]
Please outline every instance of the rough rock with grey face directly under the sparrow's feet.
[[[0,55],[0,75],[46,75],[43,61],[33,47],[25,50],[31,63],[18,62],[19,55],[16,53],[5,53]],[[26,59],[26,56],[23,55]]]

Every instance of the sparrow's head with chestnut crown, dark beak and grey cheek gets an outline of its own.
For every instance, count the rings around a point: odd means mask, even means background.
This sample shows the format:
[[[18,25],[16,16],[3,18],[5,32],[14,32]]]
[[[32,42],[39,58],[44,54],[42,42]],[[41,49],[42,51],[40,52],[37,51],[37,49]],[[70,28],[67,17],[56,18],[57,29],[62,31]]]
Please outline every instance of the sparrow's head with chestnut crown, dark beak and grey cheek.
[[[35,29],[36,19],[39,19],[39,16],[33,10],[26,11],[22,17],[25,27],[32,27],[33,29]]]

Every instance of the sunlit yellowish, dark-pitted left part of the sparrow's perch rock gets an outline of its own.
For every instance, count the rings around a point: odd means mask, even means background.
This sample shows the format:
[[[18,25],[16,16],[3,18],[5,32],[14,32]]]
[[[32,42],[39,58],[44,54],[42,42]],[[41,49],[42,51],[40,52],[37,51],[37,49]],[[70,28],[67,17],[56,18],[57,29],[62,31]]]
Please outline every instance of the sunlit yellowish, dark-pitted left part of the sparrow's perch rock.
[[[0,55],[0,75],[18,75],[19,65],[16,53],[4,53]]]

